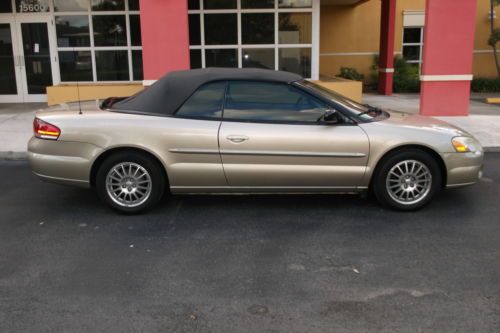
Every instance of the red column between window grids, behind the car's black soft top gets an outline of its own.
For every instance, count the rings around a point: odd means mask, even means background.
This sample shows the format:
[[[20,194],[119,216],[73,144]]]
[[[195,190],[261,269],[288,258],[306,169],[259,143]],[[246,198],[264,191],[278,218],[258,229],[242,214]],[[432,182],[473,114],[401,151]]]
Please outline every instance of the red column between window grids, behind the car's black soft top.
[[[140,0],[144,80],[189,69],[186,0]]]

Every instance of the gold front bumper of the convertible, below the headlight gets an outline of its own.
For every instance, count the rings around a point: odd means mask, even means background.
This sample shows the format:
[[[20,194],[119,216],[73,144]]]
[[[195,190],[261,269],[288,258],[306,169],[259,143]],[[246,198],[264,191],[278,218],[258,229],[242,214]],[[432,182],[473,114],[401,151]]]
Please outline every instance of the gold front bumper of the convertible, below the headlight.
[[[483,174],[484,153],[444,153],[447,171],[447,188],[475,184]]]

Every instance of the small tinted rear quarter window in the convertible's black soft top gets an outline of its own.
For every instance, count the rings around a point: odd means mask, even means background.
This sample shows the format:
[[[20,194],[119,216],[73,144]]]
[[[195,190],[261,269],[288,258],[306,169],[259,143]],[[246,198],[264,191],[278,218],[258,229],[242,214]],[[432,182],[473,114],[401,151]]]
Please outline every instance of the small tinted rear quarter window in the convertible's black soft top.
[[[177,110],[176,115],[187,118],[220,119],[226,82],[202,85]]]

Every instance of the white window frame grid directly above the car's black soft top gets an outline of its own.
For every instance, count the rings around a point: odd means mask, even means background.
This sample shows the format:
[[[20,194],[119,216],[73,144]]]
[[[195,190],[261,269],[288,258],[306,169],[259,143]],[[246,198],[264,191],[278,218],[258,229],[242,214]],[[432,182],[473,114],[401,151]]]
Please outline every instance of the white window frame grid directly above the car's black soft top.
[[[280,49],[301,49],[311,50],[311,68],[312,79],[319,78],[319,0],[312,0],[312,6],[302,7],[279,7],[279,0],[275,0],[273,8],[242,8],[241,0],[236,0],[235,9],[204,9],[203,0],[199,0],[199,9],[189,9],[188,15],[199,15],[200,19],[200,44],[189,45],[189,50],[201,51],[201,68],[206,68],[206,50],[213,49],[235,49],[237,55],[237,66],[234,68],[243,68],[243,50],[244,49],[273,49],[274,50],[274,70],[279,70],[279,50]],[[274,43],[271,44],[243,44],[242,42],[242,14],[274,14]],[[279,15],[282,13],[310,13],[311,14],[311,43],[303,44],[280,44],[279,43]],[[224,45],[208,45],[205,43],[205,20],[204,16],[210,14],[236,14],[237,15],[237,43]]]

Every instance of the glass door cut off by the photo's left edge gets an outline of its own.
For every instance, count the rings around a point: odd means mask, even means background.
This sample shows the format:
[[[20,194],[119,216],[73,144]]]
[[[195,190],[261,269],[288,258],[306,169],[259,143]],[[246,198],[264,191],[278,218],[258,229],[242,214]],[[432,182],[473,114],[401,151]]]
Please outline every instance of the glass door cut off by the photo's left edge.
[[[0,102],[23,101],[20,63],[14,20],[0,18]]]

